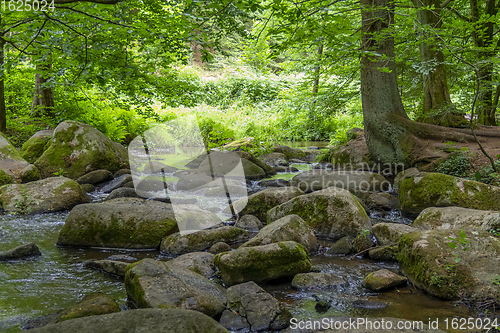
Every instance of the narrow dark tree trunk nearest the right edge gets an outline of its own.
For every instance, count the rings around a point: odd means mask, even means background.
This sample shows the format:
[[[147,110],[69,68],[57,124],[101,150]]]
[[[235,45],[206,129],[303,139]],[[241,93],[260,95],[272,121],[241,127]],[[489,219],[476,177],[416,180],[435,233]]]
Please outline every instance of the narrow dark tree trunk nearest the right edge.
[[[483,3],[482,1],[480,3]],[[480,23],[481,7],[477,0],[470,0],[471,21],[475,23],[472,37],[474,45],[478,51],[478,69],[479,69],[479,97],[478,97],[478,120],[484,125],[496,125],[495,109],[493,108],[493,98],[495,88],[493,86],[493,63],[491,58],[494,56],[493,37],[494,23]],[[495,16],[498,8],[495,6],[495,0],[486,0],[486,8],[483,16]]]

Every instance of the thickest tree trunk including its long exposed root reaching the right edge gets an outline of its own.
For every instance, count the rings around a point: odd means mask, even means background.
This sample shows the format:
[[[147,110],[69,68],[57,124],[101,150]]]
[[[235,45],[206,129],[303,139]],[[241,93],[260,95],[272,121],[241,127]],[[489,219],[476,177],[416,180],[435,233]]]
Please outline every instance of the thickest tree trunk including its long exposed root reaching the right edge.
[[[447,141],[475,143],[470,129],[411,121],[398,94],[394,63],[394,20],[390,0],[361,0],[361,99],[365,139],[371,158],[387,166],[426,164],[446,155]],[[479,129],[484,140],[498,141],[500,131]],[[449,147],[448,147],[449,148]]]

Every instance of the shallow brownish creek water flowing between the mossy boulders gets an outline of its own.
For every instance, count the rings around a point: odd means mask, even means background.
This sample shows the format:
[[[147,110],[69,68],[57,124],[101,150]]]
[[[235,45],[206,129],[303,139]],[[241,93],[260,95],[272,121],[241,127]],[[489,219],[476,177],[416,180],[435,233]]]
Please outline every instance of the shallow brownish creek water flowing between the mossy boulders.
[[[304,164],[294,166],[300,170],[311,167]],[[290,179],[295,174],[278,174],[273,178]],[[102,200],[103,197],[100,193],[94,194],[96,200]],[[0,262],[0,332],[19,332],[24,320],[73,305],[91,292],[106,293],[115,298],[122,309],[127,309],[123,280],[84,268],[82,262],[85,260],[105,259],[114,254],[128,254],[137,259],[149,257],[167,260],[162,258],[158,251],[57,247],[57,237],[67,215],[68,212],[26,217],[0,215],[0,251],[35,242],[42,252],[41,257],[30,260]],[[380,218],[372,216],[374,222]],[[409,222],[398,212],[391,212],[383,218],[391,222]],[[328,245],[323,242],[323,246]],[[345,285],[333,290],[311,292],[294,290],[290,281],[263,286],[284,302],[299,320],[339,316],[396,317],[424,323],[427,323],[429,318],[439,318],[443,323],[447,318],[478,318],[484,315],[467,307],[457,306],[453,302],[431,298],[412,286],[383,293],[372,293],[362,286],[362,281],[368,273],[381,268],[397,272],[397,263],[324,254],[312,256],[311,263],[322,272],[337,274],[345,281]],[[321,300],[332,305],[325,313],[315,310],[316,302]],[[489,315],[495,314],[490,312]]]

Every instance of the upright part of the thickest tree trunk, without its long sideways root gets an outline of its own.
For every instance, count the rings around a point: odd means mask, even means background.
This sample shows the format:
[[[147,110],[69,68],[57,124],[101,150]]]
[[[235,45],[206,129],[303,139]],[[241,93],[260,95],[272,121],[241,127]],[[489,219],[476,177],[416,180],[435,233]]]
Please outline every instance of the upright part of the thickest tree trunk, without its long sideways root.
[[[361,57],[361,100],[366,144],[377,162],[408,164],[402,147],[406,130],[390,120],[393,116],[408,119],[398,94],[394,38],[389,30],[394,21],[394,10],[389,0],[361,0],[361,4],[361,48],[364,52]]]

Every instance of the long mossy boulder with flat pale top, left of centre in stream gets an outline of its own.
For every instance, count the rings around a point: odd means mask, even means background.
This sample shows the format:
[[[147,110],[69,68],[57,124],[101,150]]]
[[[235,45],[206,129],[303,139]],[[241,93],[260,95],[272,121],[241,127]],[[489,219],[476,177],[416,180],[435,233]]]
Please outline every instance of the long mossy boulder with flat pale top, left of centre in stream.
[[[73,208],[59,232],[57,244],[157,249],[163,237],[177,231],[172,205],[120,198]]]

